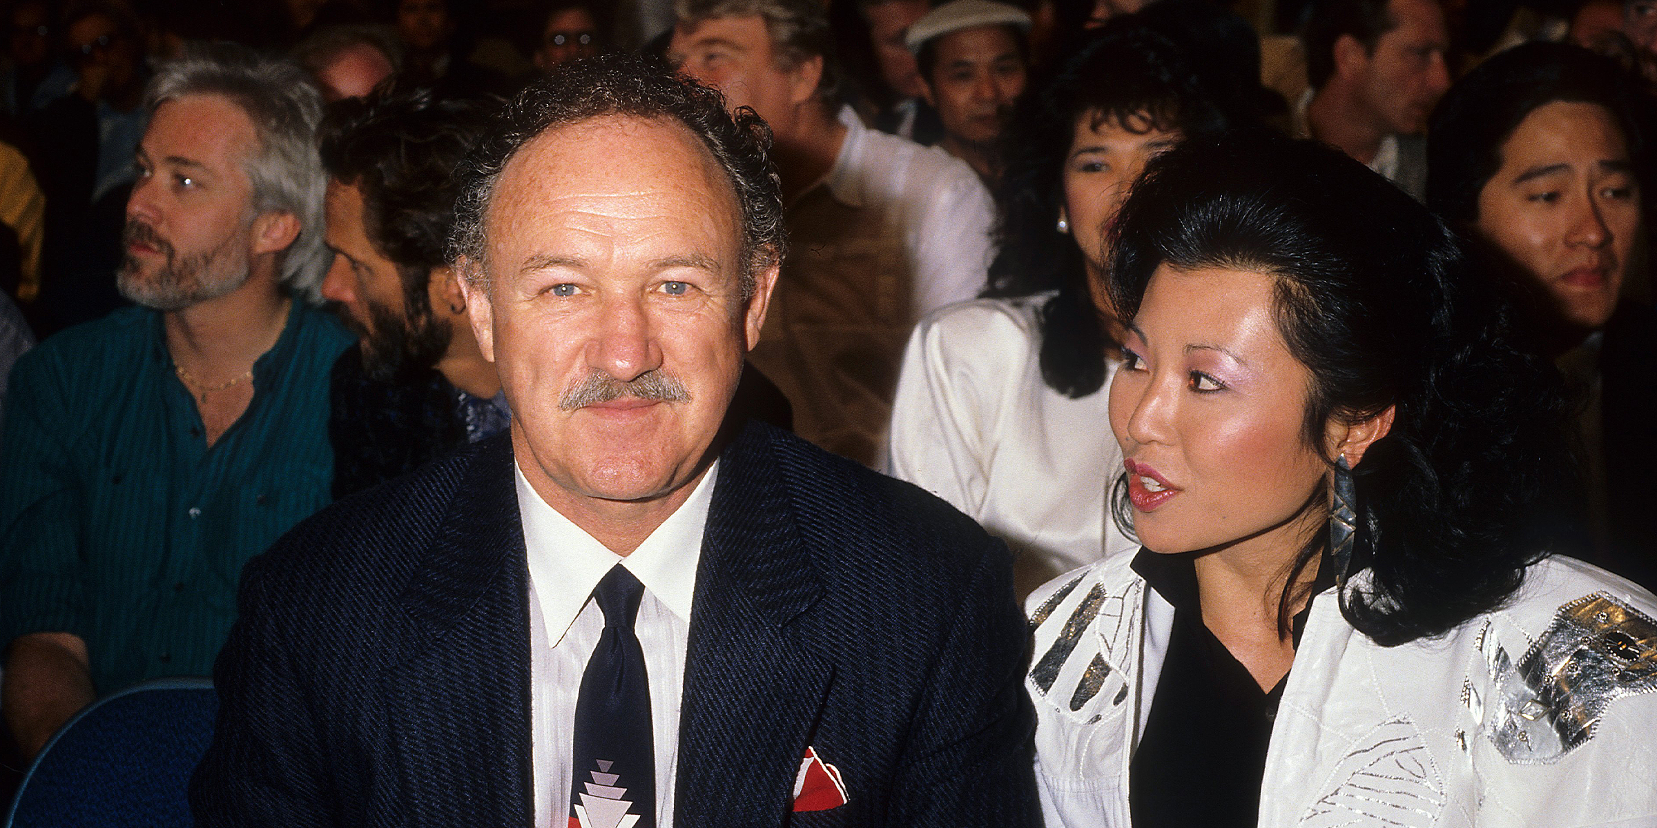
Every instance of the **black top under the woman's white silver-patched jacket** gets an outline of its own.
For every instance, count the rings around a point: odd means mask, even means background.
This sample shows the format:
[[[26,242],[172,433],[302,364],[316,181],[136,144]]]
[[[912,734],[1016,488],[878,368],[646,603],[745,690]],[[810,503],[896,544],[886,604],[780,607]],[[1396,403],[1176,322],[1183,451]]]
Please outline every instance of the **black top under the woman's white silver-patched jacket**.
[[[1173,629],[1128,768],[1128,806],[1135,828],[1253,828],[1271,725],[1289,677],[1261,691],[1248,667],[1208,631],[1193,560],[1145,548],[1133,558],[1133,571],[1173,604]],[[1332,566],[1319,566],[1314,595],[1332,585]],[[1309,613],[1311,601],[1294,616],[1296,644]]]

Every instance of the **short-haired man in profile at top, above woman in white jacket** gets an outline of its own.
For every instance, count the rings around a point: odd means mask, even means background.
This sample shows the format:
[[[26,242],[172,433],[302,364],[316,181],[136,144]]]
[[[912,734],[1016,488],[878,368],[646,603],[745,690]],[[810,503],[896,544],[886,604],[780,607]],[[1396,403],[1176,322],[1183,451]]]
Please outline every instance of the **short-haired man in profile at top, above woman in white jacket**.
[[[1438,0],[1332,0],[1302,35],[1311,88],[1301,137],[1334,144],[1417,200],[1427,195],[1427,116],[1450,88]]]

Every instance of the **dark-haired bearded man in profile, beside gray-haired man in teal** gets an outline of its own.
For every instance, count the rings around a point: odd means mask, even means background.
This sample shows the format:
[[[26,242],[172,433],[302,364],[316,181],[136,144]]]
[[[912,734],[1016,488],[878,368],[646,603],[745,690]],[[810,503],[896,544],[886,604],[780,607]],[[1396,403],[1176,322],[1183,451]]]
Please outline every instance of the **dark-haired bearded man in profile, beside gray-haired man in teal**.
[[[454,171],[487,126],[486,104],[421,91],[340,103],[323,123],[333,265],[321,293],[358,335],[330,383],[335,497],[510,422],[444,255]]]

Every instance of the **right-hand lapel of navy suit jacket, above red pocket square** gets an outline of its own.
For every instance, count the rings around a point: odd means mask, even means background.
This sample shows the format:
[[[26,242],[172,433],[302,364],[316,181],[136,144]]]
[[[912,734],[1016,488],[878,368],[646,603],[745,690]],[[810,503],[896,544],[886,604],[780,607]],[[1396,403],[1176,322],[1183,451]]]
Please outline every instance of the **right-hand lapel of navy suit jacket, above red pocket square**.
[[[708,513],[679,717],[674,825],[780,825],[833,666],[795,621],[822,583],[767,427],[722,454]]]

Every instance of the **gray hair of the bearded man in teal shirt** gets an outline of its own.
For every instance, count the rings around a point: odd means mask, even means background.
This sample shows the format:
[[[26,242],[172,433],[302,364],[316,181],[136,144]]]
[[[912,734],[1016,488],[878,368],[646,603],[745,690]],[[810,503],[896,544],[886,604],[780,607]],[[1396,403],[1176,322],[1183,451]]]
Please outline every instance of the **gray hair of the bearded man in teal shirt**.
[[[254,123],[258,149],[244,167],[254,185],[252,209],[298,219],[300,233],[282,255],[282,282],[293,295],[321,301],[318,286],[328,270],[323,247],[328,179],[316,156],[321,93],[293,61],[232,43],[196,43],[156,71],[144,89],[144,106],[154,113],[187,94],[222,94]]]

